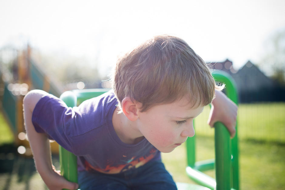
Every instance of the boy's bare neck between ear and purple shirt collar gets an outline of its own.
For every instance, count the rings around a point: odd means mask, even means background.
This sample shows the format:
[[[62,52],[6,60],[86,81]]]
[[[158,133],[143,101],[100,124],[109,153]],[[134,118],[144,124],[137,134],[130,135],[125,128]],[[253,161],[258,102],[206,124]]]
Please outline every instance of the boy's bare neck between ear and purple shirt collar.
[[[136,122],[130,121],[123,113],[118,114],[119,109],[115,109],[112,116],[112,123],[116,134],[122,142],[126,144],[136,144],[144,139]]]

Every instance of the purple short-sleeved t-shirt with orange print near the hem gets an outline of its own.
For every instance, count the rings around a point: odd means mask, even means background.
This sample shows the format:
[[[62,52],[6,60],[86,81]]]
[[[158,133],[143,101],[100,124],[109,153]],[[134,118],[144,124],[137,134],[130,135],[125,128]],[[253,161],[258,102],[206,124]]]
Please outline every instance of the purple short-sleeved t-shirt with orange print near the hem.
[[[35,106],[32,122],[37,132],[78,156],[79,170],[115,174],[160,159],[160,152],[145,138],[134,145],[119,139],[112,124],[117,104],[112,91],[74,108],[46,95]]]

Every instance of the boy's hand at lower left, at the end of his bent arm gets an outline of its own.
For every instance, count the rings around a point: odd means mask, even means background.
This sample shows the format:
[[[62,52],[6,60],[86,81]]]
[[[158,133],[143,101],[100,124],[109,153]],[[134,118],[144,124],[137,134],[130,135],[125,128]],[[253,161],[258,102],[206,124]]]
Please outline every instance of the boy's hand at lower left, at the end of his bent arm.
[[[62,189],[78,189],[79,186],[77,183],[67,181],[63,176],[61,176],[60,171],[56,170],[52,166],[53,171],[46,172],[41,175],[42,179],[45,182],[45,185],[50,190],[62,190]]]

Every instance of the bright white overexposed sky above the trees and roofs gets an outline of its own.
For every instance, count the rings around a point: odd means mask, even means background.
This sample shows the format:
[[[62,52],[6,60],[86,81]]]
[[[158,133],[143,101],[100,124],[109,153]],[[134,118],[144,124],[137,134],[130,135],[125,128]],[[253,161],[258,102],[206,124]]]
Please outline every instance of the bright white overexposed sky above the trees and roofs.
[[[283,0],[0,0],[0,48],[82,57],[108,74],[117,56],[158,34],[183,38],[206,62],[258,63],[285,27]],[[83,60],[83,59],[82,59]],[[85,63],[82,63],[85,64]]]

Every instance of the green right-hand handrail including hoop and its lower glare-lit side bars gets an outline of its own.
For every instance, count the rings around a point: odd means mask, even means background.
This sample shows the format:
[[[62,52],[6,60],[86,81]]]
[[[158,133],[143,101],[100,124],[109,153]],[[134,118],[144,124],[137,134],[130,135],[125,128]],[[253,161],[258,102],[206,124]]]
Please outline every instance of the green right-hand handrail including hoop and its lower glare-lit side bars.
[[[233,78],[223,71],[213,72],[216,82],[226,85],[226,95],[236,104],[238,96]],[[195,136],[188,138],[187,146],[187,175],[200,185],[216,190],[239,189],[238,166],[238,133],[230,139],[230,133],[221,122],[216,122],[215,127],[215,159],[196,162]],[[201,171],[215,169],[216,179]]]

